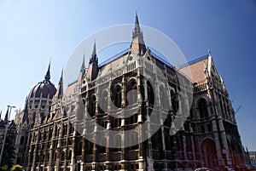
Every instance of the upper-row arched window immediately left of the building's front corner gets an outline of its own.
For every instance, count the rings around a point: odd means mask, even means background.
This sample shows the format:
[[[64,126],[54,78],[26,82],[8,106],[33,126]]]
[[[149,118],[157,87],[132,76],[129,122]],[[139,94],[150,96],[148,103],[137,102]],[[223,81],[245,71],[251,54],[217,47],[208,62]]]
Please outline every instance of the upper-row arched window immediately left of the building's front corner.
[[[126,93],[126,98],[129,103],[128,105],[137,103],[137,82],[135,79],[131,79],[128,83]]]

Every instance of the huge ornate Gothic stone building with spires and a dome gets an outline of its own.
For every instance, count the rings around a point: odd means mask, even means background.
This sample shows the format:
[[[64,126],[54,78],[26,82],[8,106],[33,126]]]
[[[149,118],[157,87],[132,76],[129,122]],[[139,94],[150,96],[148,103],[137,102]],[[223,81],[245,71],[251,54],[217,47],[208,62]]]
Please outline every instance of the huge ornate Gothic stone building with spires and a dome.
[[[212,54],[177,69],[146,45],[136,15],[130,48],[100,65],[94,43],[66,89],[63,73],[51,83],[49,64],[16,114],[15,163],[29,171],[153,171],[245,162]]]

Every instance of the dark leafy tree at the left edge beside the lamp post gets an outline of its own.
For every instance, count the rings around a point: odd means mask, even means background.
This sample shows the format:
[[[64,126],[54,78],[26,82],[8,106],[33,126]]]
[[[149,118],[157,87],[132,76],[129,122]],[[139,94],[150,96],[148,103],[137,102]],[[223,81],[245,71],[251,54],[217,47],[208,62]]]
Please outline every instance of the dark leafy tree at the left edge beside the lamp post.
[[[5,145],[3,148],[3,156],[0,167],[2,168],[4,165],[7,165],[9,168],[13,165],[13,160],[15,159],[15,126],[12,124],[9,125]],[[1,148],[3,147],[3,137],[4,134],[1,135]]]

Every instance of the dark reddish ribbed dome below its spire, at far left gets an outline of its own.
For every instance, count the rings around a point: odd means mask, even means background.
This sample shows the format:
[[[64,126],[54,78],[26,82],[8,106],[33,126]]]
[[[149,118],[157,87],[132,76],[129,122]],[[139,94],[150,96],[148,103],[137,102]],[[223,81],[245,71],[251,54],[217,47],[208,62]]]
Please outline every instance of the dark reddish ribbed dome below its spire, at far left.
[[[40,82],[34,88],[32,88],[29,94],[29,98],[33,98],[33,97],[39,98],[41,97],[41,94],[42,94],[42,98],[49,97],[49,99],[52,99],[55,93],[56,93],[55,85],[53,83],[50,83],[47,80],[44,80],[44,82]]]

